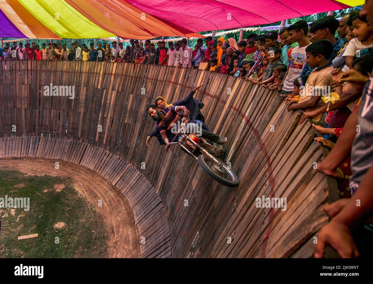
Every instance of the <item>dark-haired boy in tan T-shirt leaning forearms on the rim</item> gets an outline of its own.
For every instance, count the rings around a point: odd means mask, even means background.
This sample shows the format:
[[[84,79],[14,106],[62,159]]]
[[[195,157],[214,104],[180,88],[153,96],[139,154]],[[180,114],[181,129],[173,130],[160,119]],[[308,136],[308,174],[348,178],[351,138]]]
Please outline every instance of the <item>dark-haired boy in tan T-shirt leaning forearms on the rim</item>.
[[[316,67],[316,69],[308,76],[299,101],[293,100],[289,102],[288,111],[300,108],[307,111],[315,110],[320,107],[320,104],[324,104],[320,100],[320,95],[330,93],[328,89],[330,89],[329,86],[332,83],[330,72],[332,72],[333,66],[329,58],[333,52],[332,42],[329,40],[315,41],[307,46],[305,52],[308,65]],[[317,125],[325,125],[325,117],[325,114],[320,114],[312,120]]]

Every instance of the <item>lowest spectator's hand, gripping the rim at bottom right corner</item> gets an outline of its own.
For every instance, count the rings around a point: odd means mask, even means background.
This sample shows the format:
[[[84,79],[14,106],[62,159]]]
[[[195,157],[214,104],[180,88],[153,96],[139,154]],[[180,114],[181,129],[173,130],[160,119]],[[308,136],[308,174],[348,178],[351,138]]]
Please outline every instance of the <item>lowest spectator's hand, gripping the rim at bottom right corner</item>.
[[[333,221],[333,219],[322,227],[317,234],[317,243],[314,246],[315,258],[323,257],[327,244],[335,249],[342,258],[356,258],[359,256],[350,229],[345,224]]]

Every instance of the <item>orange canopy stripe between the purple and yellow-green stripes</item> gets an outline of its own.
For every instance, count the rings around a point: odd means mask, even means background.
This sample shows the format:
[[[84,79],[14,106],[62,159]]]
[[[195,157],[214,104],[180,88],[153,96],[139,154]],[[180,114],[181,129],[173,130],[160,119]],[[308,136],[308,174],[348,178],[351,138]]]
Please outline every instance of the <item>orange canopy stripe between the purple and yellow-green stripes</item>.
[[[8,19],[28,38],[50,38],[61,40],[50,29],[40,23],[16,0],[0,0],[0,7]]]

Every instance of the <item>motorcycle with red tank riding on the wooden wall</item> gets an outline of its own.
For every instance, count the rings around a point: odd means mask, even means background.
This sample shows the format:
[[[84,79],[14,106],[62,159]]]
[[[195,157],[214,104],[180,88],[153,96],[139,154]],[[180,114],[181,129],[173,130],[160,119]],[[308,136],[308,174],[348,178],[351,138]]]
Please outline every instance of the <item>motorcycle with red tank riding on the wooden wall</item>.
[[[228,186],[237,187],[239,180],[237,175],[220,158],[224,155],[223,145],[198,137],[195,133],[186,131],[186,124],[189,119],[184,117],[179,127],[177,142],[170,142],[166,151],[171,145],[178,144],[182,151],[189,154],[198,161],[203,170],[217,182]]]

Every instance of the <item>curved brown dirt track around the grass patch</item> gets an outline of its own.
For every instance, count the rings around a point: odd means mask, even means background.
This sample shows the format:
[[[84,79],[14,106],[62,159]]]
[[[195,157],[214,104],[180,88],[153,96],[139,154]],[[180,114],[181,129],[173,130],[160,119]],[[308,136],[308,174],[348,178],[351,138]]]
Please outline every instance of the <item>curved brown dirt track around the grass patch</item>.
[[[0,169],[18,170],[22,173],[38,176],[69,177],[74,181],[74,188],[92,207],[100,212],[110,228],[108,232],[109,257],[139,258],[140,243],[138,228],[128,200],[110,182],[100,174],[82,165],[66,161],[58,161],[59,169],[55,169],[55,160],[41,158],[2,158]],[[60,186],[55,190],[63,190]],[[98,206],[98,200],[102,206]]]

